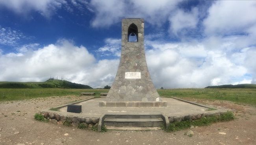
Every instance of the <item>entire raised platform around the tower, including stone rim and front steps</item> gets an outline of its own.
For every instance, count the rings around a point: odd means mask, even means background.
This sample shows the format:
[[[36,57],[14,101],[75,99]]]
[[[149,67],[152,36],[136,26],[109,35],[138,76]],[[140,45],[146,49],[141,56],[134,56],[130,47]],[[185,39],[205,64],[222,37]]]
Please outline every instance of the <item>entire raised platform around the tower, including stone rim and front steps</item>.
[[[155,128],[169,127],[174,121],[196,120],[205,116],[220,115],[227,110],[219,107],[202,105],[179,98],[162,98],[165,106],[161,107],[100,107],[105,98],[81,100],[70,104],[82,105],[81,113],[67,112],[67,105],[56,106],[58,111],[51,108],[42,110],[45,118],[51,119],[52,123],[69,122],[73,126],[79,123],[97,125],[98,131],[102,126],[107,128]],[[115,105],[116,106],[116,105]]]

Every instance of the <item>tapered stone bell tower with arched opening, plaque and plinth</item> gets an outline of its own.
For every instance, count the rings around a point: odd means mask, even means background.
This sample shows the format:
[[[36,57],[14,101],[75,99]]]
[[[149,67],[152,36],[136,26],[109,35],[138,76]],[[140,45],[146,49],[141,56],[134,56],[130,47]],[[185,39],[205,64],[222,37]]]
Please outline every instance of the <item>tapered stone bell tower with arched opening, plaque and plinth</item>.
[[[106,100],[100,106],[167,106],[161,101],[148,72],[144,49],[144,19],[122,19],[119,68]]]

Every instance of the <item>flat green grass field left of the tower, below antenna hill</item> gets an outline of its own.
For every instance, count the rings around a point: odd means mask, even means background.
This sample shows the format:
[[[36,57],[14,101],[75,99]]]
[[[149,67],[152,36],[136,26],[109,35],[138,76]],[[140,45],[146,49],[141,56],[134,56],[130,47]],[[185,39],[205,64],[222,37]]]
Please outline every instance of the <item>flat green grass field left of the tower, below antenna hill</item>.
[[[24,100],[38,97],[80,95],[81,92],[108,93],[109,89],[63,89],[63,88],[0,88],[0,101]]]

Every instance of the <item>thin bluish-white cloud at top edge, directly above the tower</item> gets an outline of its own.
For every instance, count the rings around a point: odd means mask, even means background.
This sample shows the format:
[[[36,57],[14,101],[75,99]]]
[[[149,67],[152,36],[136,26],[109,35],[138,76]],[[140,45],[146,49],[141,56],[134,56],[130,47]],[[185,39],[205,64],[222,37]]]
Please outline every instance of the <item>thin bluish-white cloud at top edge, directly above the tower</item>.
[[[121,18],[144,18],[150,24],[161,25],[180,1],[91,0],[90,6],[96,15],[92,21],[92,26],[110,26],[120,22]]]

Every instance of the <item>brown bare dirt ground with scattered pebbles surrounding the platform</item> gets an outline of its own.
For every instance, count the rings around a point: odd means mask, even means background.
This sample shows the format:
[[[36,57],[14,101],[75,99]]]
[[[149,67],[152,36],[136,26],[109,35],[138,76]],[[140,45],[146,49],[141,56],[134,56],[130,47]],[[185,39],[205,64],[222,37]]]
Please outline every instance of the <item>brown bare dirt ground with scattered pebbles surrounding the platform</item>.
[[[33,119],[33,115],[43,108],[84,98],[64,96],[0,103],[0,145],[256,145],[256,108],[228,101],[190,99],[231,109],[236,119],[176,132],[152,130],[100,133]],[[195,135],[184,135],[188,130],[192,130]]]

